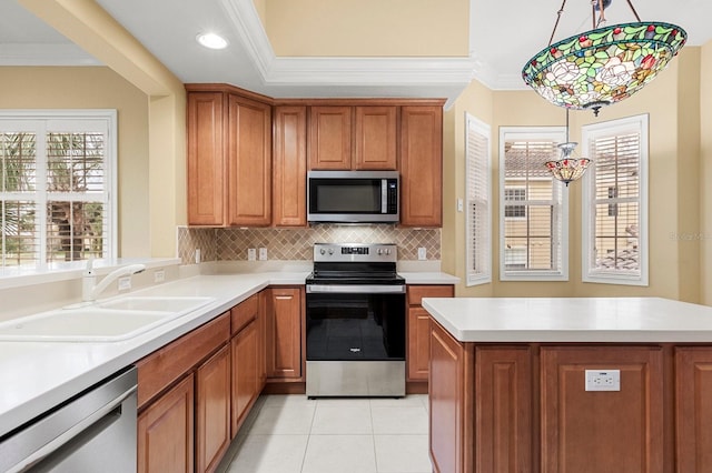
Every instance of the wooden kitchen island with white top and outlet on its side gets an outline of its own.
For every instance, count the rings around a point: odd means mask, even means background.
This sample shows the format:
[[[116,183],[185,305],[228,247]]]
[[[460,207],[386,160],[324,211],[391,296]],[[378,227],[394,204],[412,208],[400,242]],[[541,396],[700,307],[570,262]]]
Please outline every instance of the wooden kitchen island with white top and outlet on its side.
[[[424,299],[445,472],[712,471],[712,308]]]

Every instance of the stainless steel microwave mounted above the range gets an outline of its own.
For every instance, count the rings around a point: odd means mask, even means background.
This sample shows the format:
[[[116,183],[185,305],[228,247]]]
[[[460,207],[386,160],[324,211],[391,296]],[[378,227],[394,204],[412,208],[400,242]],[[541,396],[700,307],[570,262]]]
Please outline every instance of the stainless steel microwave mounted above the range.
[[[397,171],[309,171],[307,220],[337,223],[397,223]]]

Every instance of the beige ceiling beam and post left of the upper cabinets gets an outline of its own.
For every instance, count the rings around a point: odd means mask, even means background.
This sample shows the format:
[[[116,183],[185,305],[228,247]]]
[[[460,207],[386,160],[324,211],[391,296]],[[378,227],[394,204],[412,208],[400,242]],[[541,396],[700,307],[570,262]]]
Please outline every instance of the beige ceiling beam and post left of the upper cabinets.
[[[175,256],[176,227],[185,224],[187,219],[184,84],[98,3],[85,0],[18,1],[144,94],[147,121],[140,131],[141,137],[147,133],[148,138],[148,145],[142,149],[148,153],[148,163],[144,174],[131,175],[131,179],[136,178],[134,182],[146,181],[147,188],[140,190],[144,199],[137,201],[137,205],[148,208],[149,219],[148,222],[140,215],[135,219],[134,211],[127,209],[119,215],[120,225],[122,232],[131,231],[128,227],[148,232],[149,255]],[[129,140],[130,137],[129,132]],[[145,223],[148,228],[140,228]],[[145,236],[141,244],[145,244]],[[134,248],[127,246],[129,251],[131,254],[122,255],[132,255]],[[141,253],[144,251],[142,248]]]

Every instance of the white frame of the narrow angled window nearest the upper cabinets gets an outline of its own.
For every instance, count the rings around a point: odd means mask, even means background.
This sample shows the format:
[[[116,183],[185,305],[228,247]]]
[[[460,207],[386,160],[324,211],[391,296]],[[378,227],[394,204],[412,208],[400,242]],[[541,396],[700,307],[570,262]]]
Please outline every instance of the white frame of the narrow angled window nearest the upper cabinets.
[[[469,132],[474,131],[478,133],[485,141],[485,152],[484,155],[474,155],[471,154],[469,147]],[[478,159],[484,162],[479,163],[471,163],[471,159]],[[471,165],[472,164],[472,165]],[[484,217],[481,220],[486,222],[484,229],[475,229],[475,223],[473,221],[473,212],[471,211],[472,200],[471,200],[471,174],[474,172],[473,168],[479,165],[485,170],[484,177],[484,185],[485,191],[484,195],[479,195],[481,202],[484,203],[485,211],[483,212]],[[472,192],[475,193],[475,192]],[[473,198],[475,200],[476,198]],[[492,127],[485,123],[482,120],[473,117],[472,114],[465,112],[465,244],[466,244],[466,264],[467,269],[465,272],[467,286],[487,284],[492,282]],[[481,270],[475,268],[475,252],[474,252],[474,240],[479,235],[481,240],[484,240],[482,246],[479,248],[479,259],[482,260],[482,264],[478,266]]]

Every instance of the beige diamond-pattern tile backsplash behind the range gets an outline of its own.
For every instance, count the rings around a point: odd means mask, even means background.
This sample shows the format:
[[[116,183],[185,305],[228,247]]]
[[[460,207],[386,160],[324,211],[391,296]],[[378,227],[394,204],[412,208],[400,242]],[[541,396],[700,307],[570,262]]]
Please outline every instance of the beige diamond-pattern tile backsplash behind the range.
[[[178,256],[184,264],[201,261],[247,260],[247,249],[266,248],[268,260],[312,260],[314,243],[395,243],[398,260],[441,259],[439,229],[399,229],[389,225],[320,224],[308,229],[195,229],[178,228]]]

